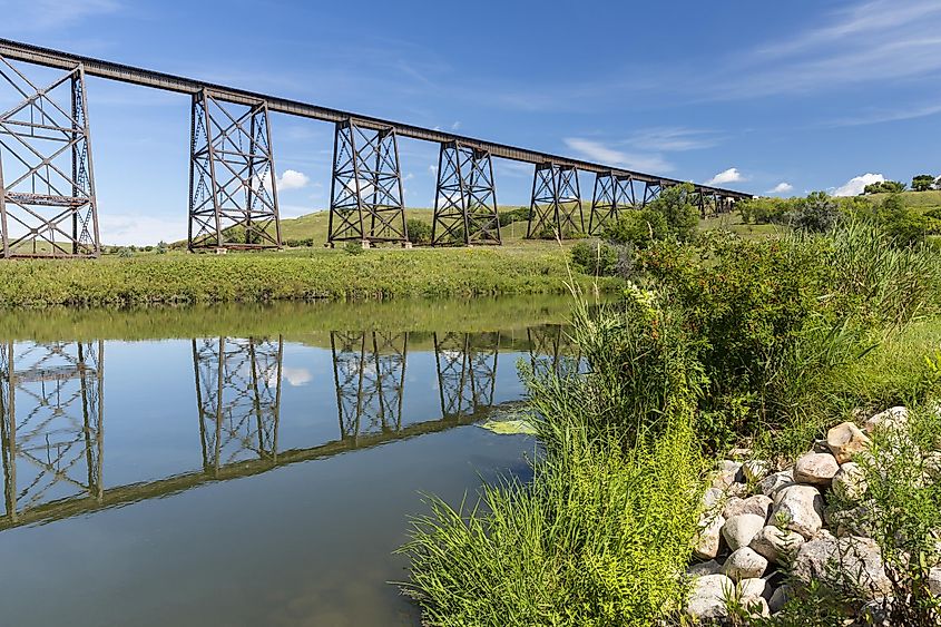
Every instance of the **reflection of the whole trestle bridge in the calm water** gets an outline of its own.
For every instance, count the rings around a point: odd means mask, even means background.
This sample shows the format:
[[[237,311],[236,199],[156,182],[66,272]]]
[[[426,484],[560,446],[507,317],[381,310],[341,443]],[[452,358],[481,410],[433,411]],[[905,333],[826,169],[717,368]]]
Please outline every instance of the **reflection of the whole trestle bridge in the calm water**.
[[[528,333],[533,364],[558,369],[570,353],[561,327]],[[192,341],[202,468],[105,488],[104,342],[0,345],[3,510],[0,530],[179,492],[278,466],[442,431],[494,406],[499,333],[434,333],[441,413],[403,415],[409,333],[334,332],[331,355],[339,438],[278,447],[284,340]],[[526,350],[507,341],[502,350]],[[424,351],[429,354],[428,350]]]

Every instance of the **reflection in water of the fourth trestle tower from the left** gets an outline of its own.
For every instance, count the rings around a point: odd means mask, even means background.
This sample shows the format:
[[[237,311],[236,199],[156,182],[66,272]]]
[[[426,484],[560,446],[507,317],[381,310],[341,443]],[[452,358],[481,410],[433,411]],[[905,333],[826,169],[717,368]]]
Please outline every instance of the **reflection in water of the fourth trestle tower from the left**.
[[[441,415],[473,415],[493,404],[499,333],[434,333]]]

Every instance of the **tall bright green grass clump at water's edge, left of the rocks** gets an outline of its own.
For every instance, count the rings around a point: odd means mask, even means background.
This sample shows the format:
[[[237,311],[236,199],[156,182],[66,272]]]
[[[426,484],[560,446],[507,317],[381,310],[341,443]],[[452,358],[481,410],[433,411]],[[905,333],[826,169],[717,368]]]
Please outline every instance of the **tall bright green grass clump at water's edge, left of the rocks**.
[[[431,498],[413,521],[404,589],[427,624],[639,626],[677,611],[702,488],[696,372],[676,321],[635,304],[579,310],[585,379],[529,373],[545,447],[531,482],[484,486],[474,506]]]

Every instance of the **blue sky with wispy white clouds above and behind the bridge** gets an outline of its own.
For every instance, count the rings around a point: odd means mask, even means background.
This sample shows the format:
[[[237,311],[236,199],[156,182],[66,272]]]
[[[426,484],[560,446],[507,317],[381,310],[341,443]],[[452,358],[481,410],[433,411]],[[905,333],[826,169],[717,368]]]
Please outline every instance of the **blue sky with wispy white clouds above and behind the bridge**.
[[[941,174],[938,0],[455,7],[0,0],[0,37],[756,194]],[[185,236],[188,98],[88,91],[102,239]],[[327,206],[332,126],[272,127],[282,215]],[[431,206],[438,147],[400,150]],[[528,204],[531,166],[494,167]]]

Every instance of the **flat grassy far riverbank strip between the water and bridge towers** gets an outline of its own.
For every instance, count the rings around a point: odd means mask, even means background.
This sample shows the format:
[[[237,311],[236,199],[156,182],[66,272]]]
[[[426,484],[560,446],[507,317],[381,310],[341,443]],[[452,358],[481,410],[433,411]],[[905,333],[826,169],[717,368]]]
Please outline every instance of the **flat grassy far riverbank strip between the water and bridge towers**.
[[[400,297],[558,294],[574,282],[558,245],[501,248],[105,256],[94,261],[0,263],[0,307],[128,306]],[[601,280],[601,290],[620,282]]]

